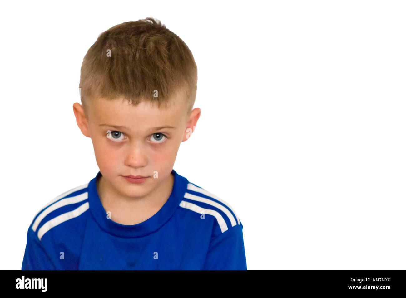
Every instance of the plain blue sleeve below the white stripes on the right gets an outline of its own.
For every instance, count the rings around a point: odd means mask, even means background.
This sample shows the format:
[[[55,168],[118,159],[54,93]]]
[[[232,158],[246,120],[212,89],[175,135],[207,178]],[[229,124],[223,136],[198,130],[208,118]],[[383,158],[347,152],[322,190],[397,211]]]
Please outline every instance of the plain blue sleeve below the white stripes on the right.
[[[212,239],[203,270],[247,270],[241,224]]]

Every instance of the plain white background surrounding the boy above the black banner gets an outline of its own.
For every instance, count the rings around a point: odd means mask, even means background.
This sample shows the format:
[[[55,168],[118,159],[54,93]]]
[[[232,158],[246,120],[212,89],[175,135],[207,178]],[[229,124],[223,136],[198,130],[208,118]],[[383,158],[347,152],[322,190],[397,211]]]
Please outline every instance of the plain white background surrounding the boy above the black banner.
[[[98,168],[76,125],[97,36],[152,16],[198,66],[174,169],[229,202],[248,270],[404,270],[403,1],[2,4],[0,269],[32,218]]]

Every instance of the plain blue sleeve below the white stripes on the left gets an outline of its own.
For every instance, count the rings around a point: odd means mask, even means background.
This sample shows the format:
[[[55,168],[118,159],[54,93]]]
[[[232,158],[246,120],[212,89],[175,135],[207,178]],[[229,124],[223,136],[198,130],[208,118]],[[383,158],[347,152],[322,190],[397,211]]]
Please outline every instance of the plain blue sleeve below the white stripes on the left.
[[[41,245],[31,227],[27,233],[27,245],[24,253],[21,270],[56,270],[50,257]]]

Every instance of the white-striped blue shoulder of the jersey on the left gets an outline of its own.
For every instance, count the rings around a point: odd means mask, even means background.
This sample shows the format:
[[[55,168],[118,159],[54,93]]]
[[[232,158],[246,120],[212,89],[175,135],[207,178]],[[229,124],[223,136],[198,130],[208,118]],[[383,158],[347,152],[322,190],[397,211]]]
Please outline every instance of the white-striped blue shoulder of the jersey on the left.
[[[30,228],[38,239],[59,224],[83,214],[89,209],[89,182],[61,193],[45,204],[32,219]]]

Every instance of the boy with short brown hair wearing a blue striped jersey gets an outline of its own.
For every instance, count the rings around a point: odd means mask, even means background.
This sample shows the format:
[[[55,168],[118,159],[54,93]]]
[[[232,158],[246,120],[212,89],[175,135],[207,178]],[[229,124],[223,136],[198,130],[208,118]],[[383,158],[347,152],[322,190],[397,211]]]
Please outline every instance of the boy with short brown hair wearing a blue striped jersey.
[[[34,217],[23,270],[246,270],[242,223],[227,202],[173,170],[196,126],[197,66],[153,18],[102,33],[73,104],[99,167]]]

